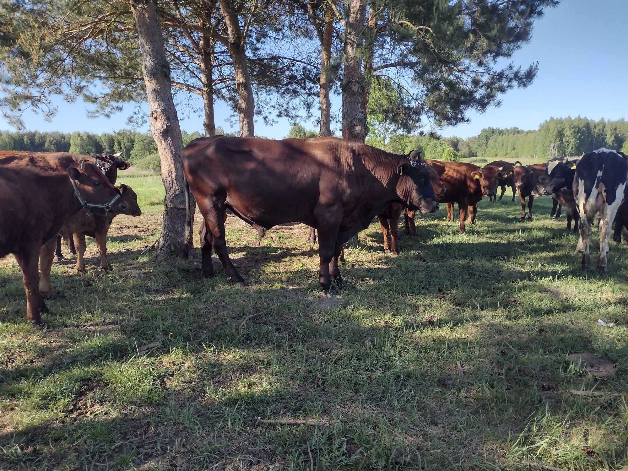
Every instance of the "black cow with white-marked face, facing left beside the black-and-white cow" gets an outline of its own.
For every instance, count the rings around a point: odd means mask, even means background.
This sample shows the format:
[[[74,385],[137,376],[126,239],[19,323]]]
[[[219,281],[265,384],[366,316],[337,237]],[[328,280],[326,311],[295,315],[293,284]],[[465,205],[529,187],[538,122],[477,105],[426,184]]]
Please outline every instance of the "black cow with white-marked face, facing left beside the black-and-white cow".
[[[573,198],[573,177],[576,174],[577,160],[555,159],[548,160],[545,173],[536,185],[536,192],[539,195],[551,195],[555,202],[564,206],[567,213],[567,230],[571,229],[573,220],[573,232],[578,231],[578,221],[580,215]]]

